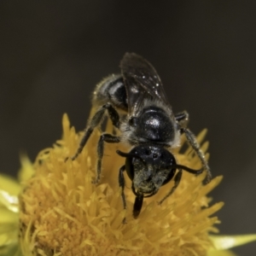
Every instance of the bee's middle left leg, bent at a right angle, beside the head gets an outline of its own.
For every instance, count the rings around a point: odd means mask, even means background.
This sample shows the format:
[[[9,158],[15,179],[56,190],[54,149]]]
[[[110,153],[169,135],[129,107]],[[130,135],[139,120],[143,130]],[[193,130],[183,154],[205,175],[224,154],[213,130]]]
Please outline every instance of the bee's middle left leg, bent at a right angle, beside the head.
[[[113,136],[112,134],[103,133],[102,136],[100,137],[98,146],[97,146],[97,154],[98,154],[97,174],[96,174],[96,180],[93,183],[99,183],[101,179],[104,143],[119,143],[119,142],[120,142],[120,138],[117,136]]]

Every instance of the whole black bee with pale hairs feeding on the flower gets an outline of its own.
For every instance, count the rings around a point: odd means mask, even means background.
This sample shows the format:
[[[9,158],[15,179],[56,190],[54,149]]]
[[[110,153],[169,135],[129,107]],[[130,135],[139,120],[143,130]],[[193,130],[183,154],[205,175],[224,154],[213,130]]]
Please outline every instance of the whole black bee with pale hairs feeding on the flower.
[[[211,181],[211,172],[194,134],[187,128],[188,113],[172,113],[172,107],[154,67],[134,53],[126,53],[120,67],[121,74],[110,75],[96,86],[93,104],[98,106],[98,110],[90,119],[72,160],[77,158],[92,131],[102,124],[108,113],[120,135],[105,132],[99,138],[95,183],[101,177],[104,143],[128,144],[130,152],[117,151],[117,154],[125,157],[125,165],[119,169],[119,186],[122,188],[123,206],[126,208],[123,173],[126,171],[132,181],[131,189],[136,195],[133,216],[137,218],[143,207],[143,198],[155,195],[172,177],[174,186],[160,204],[177,188],[183,171],[195,175],[206,171],[207,182]],[[185,134],[188,143],[200,158],[200,170],[178,165],[170,152],[170,149],[179,146],[181,134]]]

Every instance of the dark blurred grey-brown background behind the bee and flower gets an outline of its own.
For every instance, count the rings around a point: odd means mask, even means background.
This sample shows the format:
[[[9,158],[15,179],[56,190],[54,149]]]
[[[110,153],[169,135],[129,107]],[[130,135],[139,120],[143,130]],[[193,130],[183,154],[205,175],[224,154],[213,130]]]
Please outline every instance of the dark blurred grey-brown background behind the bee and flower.
[[[256,2],[1,1],[0,171],[83,130],[90,92],[126,51],[153,63],[174,112],[207,127],[222,234],[256,233]],[[255,255],[256,242],[236,250]]]

